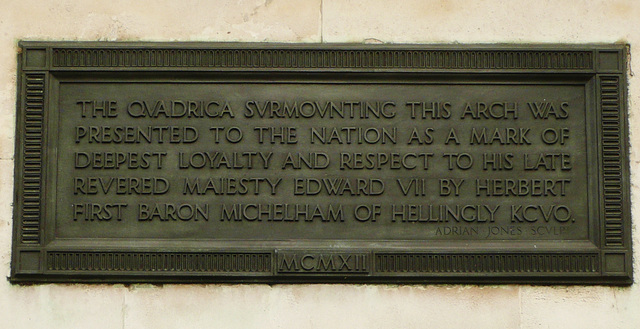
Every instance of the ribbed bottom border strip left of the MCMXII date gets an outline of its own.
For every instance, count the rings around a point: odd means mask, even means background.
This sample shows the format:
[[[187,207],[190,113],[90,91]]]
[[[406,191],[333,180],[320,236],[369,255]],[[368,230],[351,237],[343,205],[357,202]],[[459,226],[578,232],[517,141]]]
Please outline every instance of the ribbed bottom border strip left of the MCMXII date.
[[[49,271],[271,273],[269,253],[47,252]]]

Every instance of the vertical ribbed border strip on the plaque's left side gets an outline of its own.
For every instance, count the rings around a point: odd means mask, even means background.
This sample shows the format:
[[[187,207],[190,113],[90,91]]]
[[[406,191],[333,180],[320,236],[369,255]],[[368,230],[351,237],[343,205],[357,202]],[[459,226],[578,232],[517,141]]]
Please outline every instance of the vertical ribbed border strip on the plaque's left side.
[[[44,74],[26,74],[22,112],[22,217],[20,241],[40,243],[44,151]]]

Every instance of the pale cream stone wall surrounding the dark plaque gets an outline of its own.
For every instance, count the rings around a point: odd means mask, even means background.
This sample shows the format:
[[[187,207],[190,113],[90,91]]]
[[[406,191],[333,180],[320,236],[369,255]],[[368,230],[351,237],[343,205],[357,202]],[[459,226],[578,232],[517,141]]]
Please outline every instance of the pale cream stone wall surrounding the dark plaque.
[[[16,52],[23,40],[626,42],[640,1],[0,0],[0,276],[9,275]],[[640,79],[629,79],[640,278]],[[0,280],[0,328],[640,328],[640,285],[37,285]]]

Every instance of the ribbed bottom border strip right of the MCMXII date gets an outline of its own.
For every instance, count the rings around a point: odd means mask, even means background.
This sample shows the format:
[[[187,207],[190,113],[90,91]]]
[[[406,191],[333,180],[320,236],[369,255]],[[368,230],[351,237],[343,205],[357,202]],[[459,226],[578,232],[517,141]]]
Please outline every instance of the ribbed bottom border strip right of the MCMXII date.
[[[377,253],[377,273],[598,273],[598,254]]]

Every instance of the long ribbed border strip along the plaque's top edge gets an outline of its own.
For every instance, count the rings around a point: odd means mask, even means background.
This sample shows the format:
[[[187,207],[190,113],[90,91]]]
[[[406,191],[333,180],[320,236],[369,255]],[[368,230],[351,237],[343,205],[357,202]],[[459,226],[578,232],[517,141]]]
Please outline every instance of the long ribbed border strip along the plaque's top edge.
[[[591,51],[53,48],[52,66],[279,69],[593,69]]]

